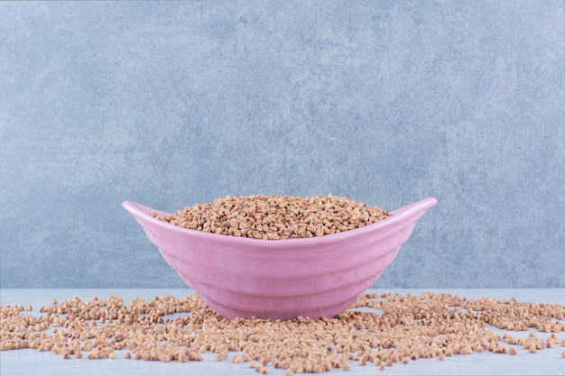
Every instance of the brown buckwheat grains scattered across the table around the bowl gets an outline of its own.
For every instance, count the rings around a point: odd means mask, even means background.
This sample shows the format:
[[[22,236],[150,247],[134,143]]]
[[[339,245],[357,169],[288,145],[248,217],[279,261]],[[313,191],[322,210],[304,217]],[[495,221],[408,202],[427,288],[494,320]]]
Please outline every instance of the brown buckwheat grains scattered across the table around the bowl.
[[[366,308],[378,312],[368,312]],[[296,317],[228,320],[198,295],[186,298],[134,298],[128,306],[118,297],[82,301],[74,297],[40,308],[0,306],[0,350],[32,348],[65,359],[123,357],[144,361],[217,361],[245,363],[260,373],[285,369],[285,375],[348,370],[373,364],[380,369],[420,358],[443,360],[469,353],[536,353],[565,346],[560,304],[518,302],[424,293],[365,293],[335,318]],[[496,335],[486,325],[507,332],[528,328],[551,333],[547,340],[529,334]],[[521,348],[525,350],[521,350]],[[505,355],[501,355],[505,356]],[[565,351],[562,356],[565,358]]]

